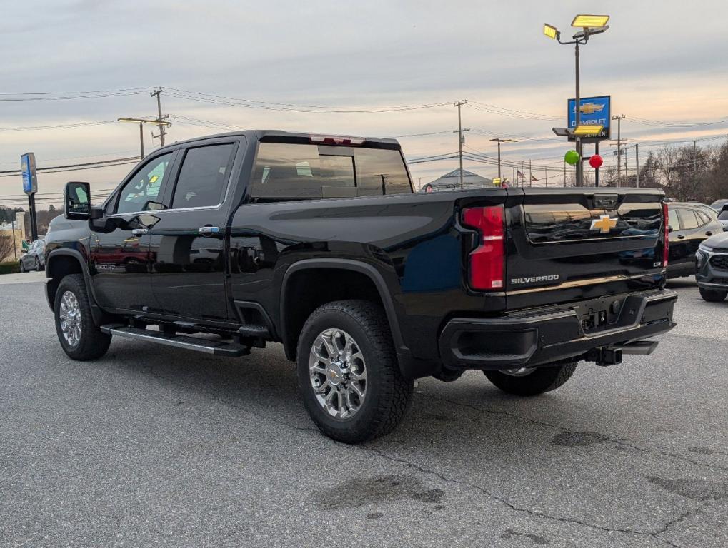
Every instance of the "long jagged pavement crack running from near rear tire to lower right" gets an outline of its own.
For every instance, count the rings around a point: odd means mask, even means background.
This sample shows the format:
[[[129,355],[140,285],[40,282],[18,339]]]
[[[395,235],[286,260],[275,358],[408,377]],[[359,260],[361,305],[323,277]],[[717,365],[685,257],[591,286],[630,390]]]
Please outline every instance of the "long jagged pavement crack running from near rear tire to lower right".
[[[392,456],[387,453],[384,453],[384,451],[381,451],[381,449],[371,447],[371,446],[362,446],[362,448],[366,449],[367,451],[371,451],[374,454],[377,454],[381,456],[384,459],[389,460],[390,462],[395,462],[397,464],[403,464],[406,467],[413,468],[414,470],[418,470],[419,472],[422,472],[424,474],[430,474],[434,475],[436,478],[439,478],[444,483],[451,483],[456,485],[462,485],[467,488],[471,488],[475,491],[478,491],[480,493],[483,493],[483,495],[487,496],[488,499],[494,500],[498,502],[499,504],[502,504],[503,506],[507,507],[513,512],[519,512],[526,515],[530,515],[533,517],[540,517],[542,519],[546,520],[553,520],[561,523],[571,523],[574,525],[581,525],[582,527],[595,529],[596,531],[604,531],[605,533],[626,533],[626,534],[632,534],[632,535],[641,535],[641,536],[652,536],[654,539],[657,539],[659,541],[665,542],[665,544],[670,544],[668,541],[665,541],[665,539],[661,539],[657,535],[660,535],[662,533],[665,533],[668,531],[668,528],[670,528],[673,525],[676,525],[677,523],[681,522],[682,520],[687,519],[687,517],[690,517],[692,515],[697,514],[702,510],[702,506],[697,507],[696,509],[689,510],[687,512],[683,512],[681,515],[679,515],[676,518],[673,518],[672,520],[669,520],[665,523],[665,525],[662,525],[662,528],[658,529],[657,531],[638,531],[637,529],[632,528],[615,528],[615,527],[606,527],[605,525],[598,525],[596,523],[588,523],[582,520],[577,520],[575,517],[563,517],[558,515],[551,515],[547,514],[546,512],[539,512],[538,510],[532,510],[526,507],[520,507],[516,504],[514,504],[511,501],[508,501],[505,497],[498,496],[495,493],[491,493],[491,491],[488,491],[486,488],[481,487],[477,483],[471,483],[465,480],[459,480],[457,478],[451,478],[446,475],[444,475],[442,472],[438,472],[437,470],[432,470],[430,468],[426,468],[422,466],[421,464],[417,464],[416,462],[408,461],[407,459],[401,459],[397,456]],[[671,544],[672,546],[675,546],[674,544]]]

